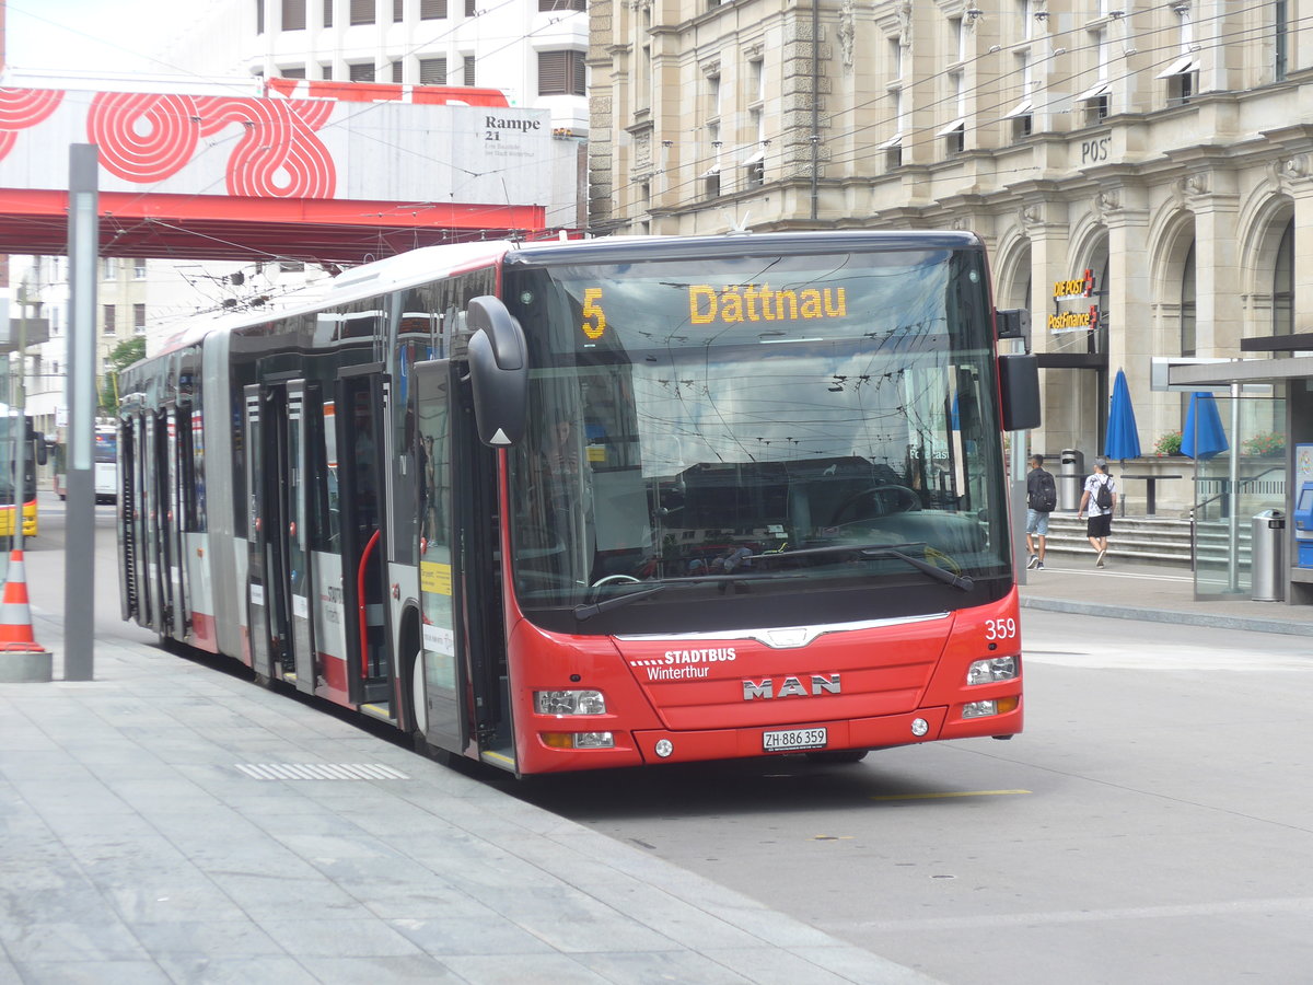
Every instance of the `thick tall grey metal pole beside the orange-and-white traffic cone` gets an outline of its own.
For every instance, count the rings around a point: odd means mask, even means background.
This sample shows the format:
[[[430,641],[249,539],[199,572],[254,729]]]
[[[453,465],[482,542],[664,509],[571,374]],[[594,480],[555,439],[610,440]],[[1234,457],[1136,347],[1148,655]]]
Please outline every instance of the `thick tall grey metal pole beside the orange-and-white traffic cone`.
[[[98,148],[68,147],[68,503],[64,541],[64,680],[95,676],[96,259]]]

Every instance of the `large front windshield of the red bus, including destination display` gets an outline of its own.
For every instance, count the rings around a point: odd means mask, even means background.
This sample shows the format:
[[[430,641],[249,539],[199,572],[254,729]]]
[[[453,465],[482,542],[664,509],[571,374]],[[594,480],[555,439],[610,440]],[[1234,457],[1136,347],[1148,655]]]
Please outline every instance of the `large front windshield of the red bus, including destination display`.
[[[527,615],[797,625],[1004,591],[985,278],[951,250],[508,274],[532,366],[511,471]]]

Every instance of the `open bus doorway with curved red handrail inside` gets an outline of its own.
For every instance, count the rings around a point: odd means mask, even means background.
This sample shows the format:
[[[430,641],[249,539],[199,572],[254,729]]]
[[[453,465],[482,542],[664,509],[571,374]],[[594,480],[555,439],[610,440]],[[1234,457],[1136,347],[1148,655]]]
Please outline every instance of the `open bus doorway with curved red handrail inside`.
[[[343,608],[348,695],[366,713],[395,720],[397,693],[387,628],[387,531],[381,449],[387,381],[377,366],[355,366],[337,380],[337,485],[341,516]]]

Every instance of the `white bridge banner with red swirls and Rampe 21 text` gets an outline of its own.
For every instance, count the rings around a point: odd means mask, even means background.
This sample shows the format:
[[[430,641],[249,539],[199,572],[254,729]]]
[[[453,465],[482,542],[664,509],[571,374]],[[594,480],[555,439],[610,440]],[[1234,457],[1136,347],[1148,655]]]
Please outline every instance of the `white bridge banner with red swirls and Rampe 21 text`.
[[[374,92],[383,88],[370,87],[372,101],[336,91],[301,98],[299,91],[247,97],[0,89],[0,186],[67,188],[67,146],[93,143],[101,190],[545,201],[546,110],[506,106],[504,97],[495,110],[421,105],[423,87]],[[412,88],[414,100],[403,92]],[[495,141],[488,120],[498,123]]]

